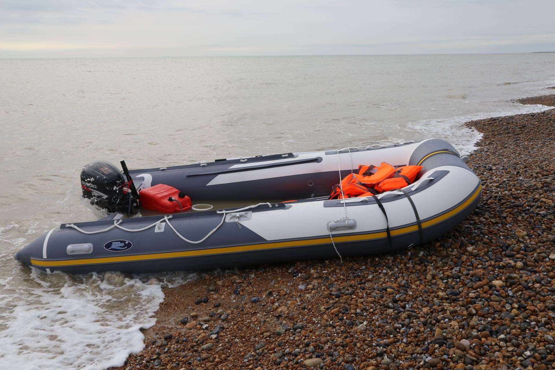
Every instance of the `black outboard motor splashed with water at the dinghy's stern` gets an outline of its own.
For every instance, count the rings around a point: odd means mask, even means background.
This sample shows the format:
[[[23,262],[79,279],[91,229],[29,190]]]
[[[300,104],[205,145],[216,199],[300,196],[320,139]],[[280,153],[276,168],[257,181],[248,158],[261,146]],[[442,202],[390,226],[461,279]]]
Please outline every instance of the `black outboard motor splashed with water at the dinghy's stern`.
[[[90,203],[110,212],[130,213],[137,207],[125,176],[116,166],[105,161],[96,161],[81,171],[83,197]]]

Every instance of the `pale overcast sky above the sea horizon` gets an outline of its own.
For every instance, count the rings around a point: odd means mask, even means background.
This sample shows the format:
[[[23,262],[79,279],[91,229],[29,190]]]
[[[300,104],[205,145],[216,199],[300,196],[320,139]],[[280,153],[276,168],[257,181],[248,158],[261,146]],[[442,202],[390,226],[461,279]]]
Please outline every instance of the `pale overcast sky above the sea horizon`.
[[[555,0],[0,0],[0,58],[555,50]]]

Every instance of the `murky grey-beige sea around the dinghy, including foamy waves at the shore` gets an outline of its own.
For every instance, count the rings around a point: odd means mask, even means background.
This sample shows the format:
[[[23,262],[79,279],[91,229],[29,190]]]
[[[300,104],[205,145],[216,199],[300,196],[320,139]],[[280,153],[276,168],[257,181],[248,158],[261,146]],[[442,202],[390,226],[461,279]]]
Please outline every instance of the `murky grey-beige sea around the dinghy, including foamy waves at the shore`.
[[[143,347],[162,284],[194,275],[46,275],[13,254],[102,217],[79,172],[441,138],[540,111],[555,54],[0,59],[0,368],[102,369]]]

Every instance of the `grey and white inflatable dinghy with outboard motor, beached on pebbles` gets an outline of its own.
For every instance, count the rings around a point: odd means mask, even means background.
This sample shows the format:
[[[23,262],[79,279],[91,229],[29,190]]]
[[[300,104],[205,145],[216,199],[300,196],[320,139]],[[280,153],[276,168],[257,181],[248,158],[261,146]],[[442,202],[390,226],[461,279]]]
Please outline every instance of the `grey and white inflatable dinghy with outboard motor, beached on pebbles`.
[[[422,169],[413,184],[400,190],[329,199],[332,186],[359,164],[381,161]],[[97,191],[106,207],[125,209],[126,203],[136,203],[131,191],[128,198],[122,196],[122,186],[135,185],[133,192],[140,195],[141,189],[157,184],[173,186],[195,201],[258,202],[239,209],[146,217],[114,213],[98,221],[62,224],[17,252],[17,260],[47,272],[142,273],[384,253],[410,249],[450,231],[475,209],[482,189],[455,148],[440,139],[124,168],[127,179],[109,164],[96,163],[83,171],[83,191]],[[108,190],[113,194],[106,194]]]

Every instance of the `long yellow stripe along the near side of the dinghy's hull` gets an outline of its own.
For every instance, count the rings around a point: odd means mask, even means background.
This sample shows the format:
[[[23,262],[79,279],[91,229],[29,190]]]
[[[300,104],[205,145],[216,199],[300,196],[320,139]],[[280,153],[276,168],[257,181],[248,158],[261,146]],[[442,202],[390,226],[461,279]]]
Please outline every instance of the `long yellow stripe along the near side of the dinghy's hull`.
[[[478,186],[478,189],[474,192],[474,194],[472,194],[470,198],[468,198],[461,205],[457,206],[455,209],[452,209],[451,211],[446,212],[445,214],[442,214],[440,216],[437,216],[431,220],[422,222],[422,228],[430,227],[432,225],[438,224],[439,222],[444,221],[453,215],[456,215],[458,212],[462,211],[468,205],[470,205],[480,194],[481,190],[482,190],[482,185]],[[412,225],[412,226],[402,227],[401,229],[391,230],[391,235],[393,236],[393,235],[407,234],[408,232],[412,232],[416,230],[418,230],[418,226]],[[335,242],[362,241],[362,240],[381,239],[385,237],[387,237],[386,232],[381,231],[381,232],[371,232],[369,234],[335,236],[334,241]],[[240,245],[240,246],[233,246],[233,247],[218,247],[218,248],[179,251],[179,252],[151,253],[151,254],[134,255],[134,256],[97,257],[97,258],[90,258],[90,259],[56,260],[56,261],[31,259],[31,263],[32,265],[37,267],[92,265],[97,263],[134,262],[134,261],[148,261],[148,260],[158,260],[158,259],[173,259],[178,257],[209,256],[209,255],[225,254],[225,253],[233,253],[233,252],[249,252],[249,251],[257,251],[257,250],[265,250],[265,249],[299,247],[299,246],[309,246],[309,245],[315,245],[315,244],[328,244],[328,243],[331,243],[331,239],[329,237],[322,237],[317,239],[269,242],[269,243],[263,243],[263,244]]]

